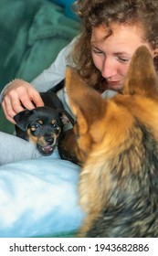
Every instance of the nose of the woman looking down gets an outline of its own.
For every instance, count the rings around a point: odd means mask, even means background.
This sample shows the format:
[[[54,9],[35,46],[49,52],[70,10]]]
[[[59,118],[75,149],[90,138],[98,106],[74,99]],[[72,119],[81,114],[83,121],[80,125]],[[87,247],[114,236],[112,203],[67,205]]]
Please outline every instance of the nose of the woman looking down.
[[[112,59],[104,59],[102,63],[101,75],[103,78],[108,79],[117,74],[117,69]]]

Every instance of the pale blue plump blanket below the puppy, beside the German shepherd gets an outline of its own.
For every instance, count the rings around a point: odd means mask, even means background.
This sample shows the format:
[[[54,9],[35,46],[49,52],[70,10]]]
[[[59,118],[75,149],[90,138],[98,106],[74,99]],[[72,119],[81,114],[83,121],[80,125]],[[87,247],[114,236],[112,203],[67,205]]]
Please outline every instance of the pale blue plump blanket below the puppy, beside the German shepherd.
[[[62,237],[83,219],[79,166],[58,153],[0,166],[0,237]]]

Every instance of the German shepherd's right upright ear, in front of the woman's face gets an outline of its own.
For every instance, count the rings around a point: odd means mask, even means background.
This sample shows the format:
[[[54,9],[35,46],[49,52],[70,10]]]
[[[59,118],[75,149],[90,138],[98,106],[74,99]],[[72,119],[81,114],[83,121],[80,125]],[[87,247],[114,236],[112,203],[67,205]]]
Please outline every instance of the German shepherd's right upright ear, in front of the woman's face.
[[[152,55],[145,46],[137,48],[132,57],[122,93],[140,94],[150,98],[158,96],[157,73]]]

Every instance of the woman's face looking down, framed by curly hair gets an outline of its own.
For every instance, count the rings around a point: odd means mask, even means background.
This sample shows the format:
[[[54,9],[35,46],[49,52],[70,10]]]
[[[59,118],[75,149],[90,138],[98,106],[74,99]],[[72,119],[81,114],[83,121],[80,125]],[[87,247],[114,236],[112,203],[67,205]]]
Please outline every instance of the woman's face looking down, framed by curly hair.
[[[145,45],[140,27],[113,25],[110,37],[105,27],[95,27],[91,35],[91,54],[94,65],[106,79],[108,89],[119,91],[127,74],[130,60],[136,48]]]

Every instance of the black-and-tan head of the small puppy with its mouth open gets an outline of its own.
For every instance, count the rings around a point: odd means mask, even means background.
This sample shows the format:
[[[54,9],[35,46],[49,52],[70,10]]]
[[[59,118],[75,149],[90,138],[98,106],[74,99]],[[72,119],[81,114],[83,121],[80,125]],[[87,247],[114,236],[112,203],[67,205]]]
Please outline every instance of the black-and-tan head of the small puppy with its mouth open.
[[[66,112],[48,107],[18,112],[14,120],[16,135],[36,144],[42,155],[53,153],[62,126],[70,122]]]

